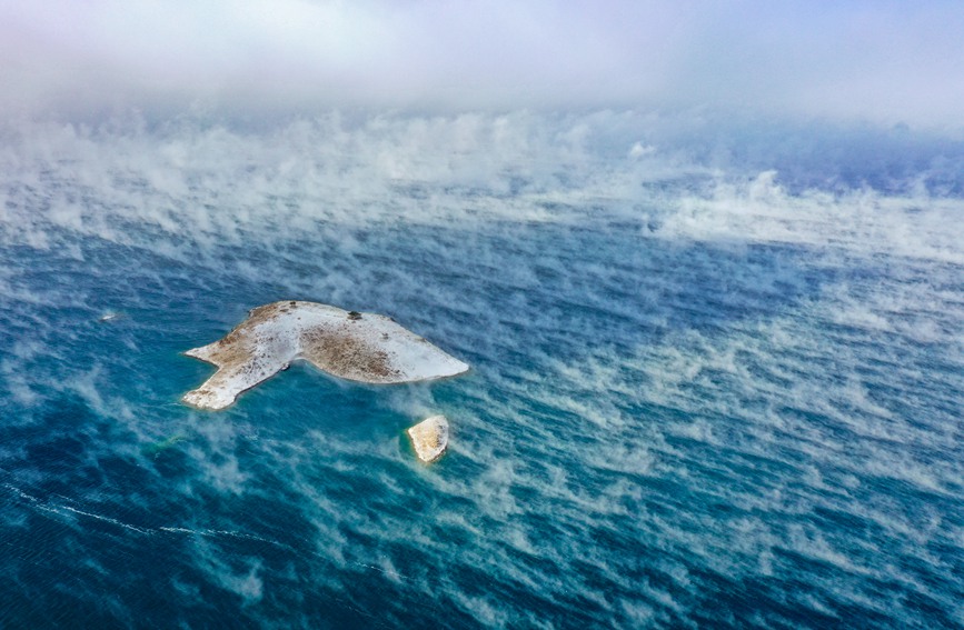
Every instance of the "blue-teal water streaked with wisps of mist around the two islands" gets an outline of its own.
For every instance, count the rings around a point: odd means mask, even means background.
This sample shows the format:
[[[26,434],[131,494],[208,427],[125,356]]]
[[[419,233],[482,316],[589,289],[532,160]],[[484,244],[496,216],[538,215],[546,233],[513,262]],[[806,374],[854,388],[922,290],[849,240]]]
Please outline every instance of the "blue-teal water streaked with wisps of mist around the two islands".
[[[716,238],[676,176],[624,208],[509,173],[386,183],[417,217],[294,192],[252,216],[217,172],[89,159],[4,180],[0,626],[964,624],[964,264],[890,238],[946,209]],[[181,352],[280,299],[390,314],[473,370],[296,364],[182,406],[212,368]],[[404,431],[437,412],[427,467]]]

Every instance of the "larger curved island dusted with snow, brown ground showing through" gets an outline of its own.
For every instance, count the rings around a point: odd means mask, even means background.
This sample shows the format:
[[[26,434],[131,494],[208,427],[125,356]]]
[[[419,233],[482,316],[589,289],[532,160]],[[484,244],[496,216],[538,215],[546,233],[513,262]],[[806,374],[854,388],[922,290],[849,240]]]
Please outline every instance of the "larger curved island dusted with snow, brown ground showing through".
[[[252,309],[227,337],[185,352],[218,367],[183,396],[201,409],[223,409],[288,363],[304,359],[336,377],[404,383],[454,377],[468,366],[392,319],[316,302],[284,301]]]

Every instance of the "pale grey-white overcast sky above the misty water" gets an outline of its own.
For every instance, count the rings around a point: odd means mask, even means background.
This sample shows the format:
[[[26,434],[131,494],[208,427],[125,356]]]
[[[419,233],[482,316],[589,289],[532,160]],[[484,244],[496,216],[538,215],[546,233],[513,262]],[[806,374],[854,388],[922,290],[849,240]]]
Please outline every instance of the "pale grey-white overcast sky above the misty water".
[[[0,0],[0,112],[696,108],[958,129],[964,2]]]

